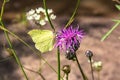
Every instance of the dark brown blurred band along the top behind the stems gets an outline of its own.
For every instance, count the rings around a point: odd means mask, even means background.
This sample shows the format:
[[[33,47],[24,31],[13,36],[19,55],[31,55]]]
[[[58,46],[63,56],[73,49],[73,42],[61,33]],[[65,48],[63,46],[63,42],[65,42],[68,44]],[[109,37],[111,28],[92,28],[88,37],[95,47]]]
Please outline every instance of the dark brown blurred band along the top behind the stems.
[[[117,11],[115,8],[116,1],[119,0],[81,0],[77,14],[85,16],[112,16],[111,14]],[[0,1],[0,6],[2,2],[3,0]],[[52,8],[58,16],[71,15],[76,2],[77,0],[47,0],[47,6]],[[6,15],[4,15],[4,18],[11,20],[18,17],[18,14],[40,6],[43,6],[42,0],[10,0],[5,6]]]

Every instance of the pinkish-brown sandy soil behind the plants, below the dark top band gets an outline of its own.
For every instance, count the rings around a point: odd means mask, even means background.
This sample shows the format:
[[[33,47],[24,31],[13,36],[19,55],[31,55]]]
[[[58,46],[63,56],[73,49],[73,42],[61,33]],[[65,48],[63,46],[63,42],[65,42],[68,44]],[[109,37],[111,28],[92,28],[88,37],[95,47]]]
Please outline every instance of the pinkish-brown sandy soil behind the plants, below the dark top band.
[[[60,8],[61,11],[63,9],[59,6],[57,8]],[[86,50],[91,50],[94,53],[93,60],[102,61],[103,63],[102,70],[100,71],[101,80],[120,80],[120,27],[118,26],[105,41],[100,41],[102,36],[115,24],[112,19],[116,18],[118,13],[109,13],[110,10],[108,9],[106,9],[108,11],[101,10],[101,12],[97,9],[96,13],[95,8],[91,7],[91,9],[93,9],[93,12],[91,11],[90,13],[88,13],[87,10],[81,11],[79,9],[77,16],[75,17],[75,21],[73,22],[73,25],[79,24],[80,28],[84,29],[86,33],[81,42],[80,48],[77,51],[77,57],[81,67],[85,71],[85,74],[88,76],[89,80],[92,80],[88,58],[84,54]],[[70,14],[68,14],[69,12]],[[65,11],[63,14],[59,13],[59,11],[56,13],[57,19],[53,21],[56,30],[61,29],[66,24],[70,18],[71,12],[71,10],[68,10],[68,12]],[[38,26],[24,24],[20,21],[20,18],[16,20],[17,13],[18,12],[16,11],[8,11],[5,13],[5,26],[35,49],[34,43],[27,32],[34,28],[38,28]],[[20,16],[19,13],[18,15]],[[48,23],[42,28],[51,29]],[[56,72],[53,71],[48,64],[43,61],[43,59],[37,56],[31,49],[22,44],[18,39],[12,35],[9,36],[13,43],[13,47],[16,50],[17,56],[20,58],[20,61],[24,66],[29,80],[57,80]],[[0,60],[8,57],[7,60],[0,61],[0,80],[25,80],[14,58],[9,57],[10,54],[6,48],[8,48],[8,44],[3,31],[0,30]],[[56,48],[54,48],[51,52],[46,52],[41,55],[52,67],[54,67],[55,70],[57,70]],[[71,66],[69,80],[82,80],[76,62],[67,60],[65,58],[65,54],[61,53],[61,68],[66,64]],[[38,70],[41,74],[38,74]],[[62,71],[61,74],[63,75]],[[41,75],[44,76],[45,79],[42,78]],[[97,80],[97,72],[95,72],[94,75],[95,80]]]

